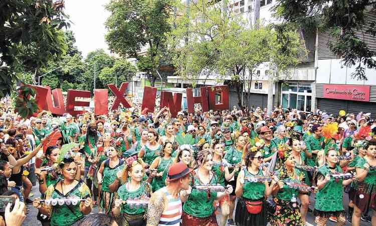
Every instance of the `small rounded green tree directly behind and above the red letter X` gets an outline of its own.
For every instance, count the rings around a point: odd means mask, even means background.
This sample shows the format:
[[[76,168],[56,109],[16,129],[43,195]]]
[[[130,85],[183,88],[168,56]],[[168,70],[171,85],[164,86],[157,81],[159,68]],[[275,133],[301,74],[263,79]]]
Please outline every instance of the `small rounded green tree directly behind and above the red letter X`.
[[[99,74],[99,80],[102,84],[117,84],[126,82],[132,79],[137,73],[137,69],[128,61],[117,59],[113,67],[105,67]]]

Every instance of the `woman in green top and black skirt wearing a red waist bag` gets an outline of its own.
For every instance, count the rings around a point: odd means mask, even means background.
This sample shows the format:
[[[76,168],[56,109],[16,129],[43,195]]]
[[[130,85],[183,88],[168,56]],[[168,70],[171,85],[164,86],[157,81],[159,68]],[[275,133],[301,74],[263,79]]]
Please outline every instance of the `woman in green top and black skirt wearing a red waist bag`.
[[[267,211],[265,205],[265,197],[272,193],[272,188],[276,184],[273,180],[269,186],[268,181],[264,182],[251,182],[247,178],[262,177],[264,176],[260,169],[263,163],[263,154],[247,145],[248,152],[245,156],[246,168],[239,172],[238,180],[236,183],[235,194],[240,197],[235,210],[235,221],[238,226],[266,226]],[[247,209],[247,203],[252,202],[253,208],[260,208],[259,210],[250,213]]]

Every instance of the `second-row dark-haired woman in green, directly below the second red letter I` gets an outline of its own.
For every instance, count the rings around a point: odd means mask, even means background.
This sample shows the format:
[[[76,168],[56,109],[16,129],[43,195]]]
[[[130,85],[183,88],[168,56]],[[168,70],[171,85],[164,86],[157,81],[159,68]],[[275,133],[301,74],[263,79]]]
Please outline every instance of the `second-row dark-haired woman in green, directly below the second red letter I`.
[[[160,145],[157,143],[158,134],[154,130],[149,130],[147,137],[148,142],[141,148],[138,157],[150,166],[154,159],[160,155]]]

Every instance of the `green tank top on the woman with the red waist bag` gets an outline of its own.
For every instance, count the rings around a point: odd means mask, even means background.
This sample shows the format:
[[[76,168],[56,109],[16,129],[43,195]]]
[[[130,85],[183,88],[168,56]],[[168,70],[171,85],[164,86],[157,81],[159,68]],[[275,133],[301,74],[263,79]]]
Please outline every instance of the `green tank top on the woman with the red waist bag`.
[[[264,176],[262,170],[259,170],[259,172],[256,175],[253,175],[252,173],[248,172],[248,169],[244,169],[244,175],[245,177]],[[245,180],[243,185],[243,197],[251,200],[259,200],[265,197],[264,182],[250,182]]]

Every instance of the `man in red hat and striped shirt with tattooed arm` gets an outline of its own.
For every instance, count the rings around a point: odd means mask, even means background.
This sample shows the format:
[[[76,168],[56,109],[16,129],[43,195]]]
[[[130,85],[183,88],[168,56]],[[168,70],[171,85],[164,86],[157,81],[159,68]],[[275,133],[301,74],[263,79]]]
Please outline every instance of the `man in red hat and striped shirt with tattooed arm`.
[[[168,185],[151,195],[147,207],[147,226],[179,226],[182,213],[180,191],[190,193],[190,173],[184,163],[172,164],[168,169]]]

